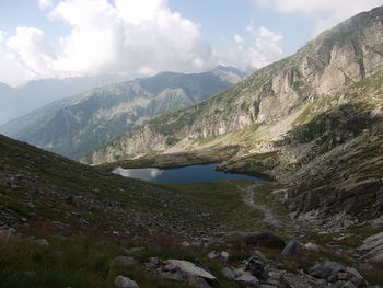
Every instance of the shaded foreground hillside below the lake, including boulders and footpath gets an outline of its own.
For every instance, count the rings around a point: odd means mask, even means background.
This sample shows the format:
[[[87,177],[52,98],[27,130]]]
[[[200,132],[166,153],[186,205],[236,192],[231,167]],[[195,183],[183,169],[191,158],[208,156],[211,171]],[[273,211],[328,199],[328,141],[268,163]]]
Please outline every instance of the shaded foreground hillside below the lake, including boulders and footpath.
[[[382,284],[381,226],[295,221],[279,184],[154,184],[4,136],[0,149],[1,287]]]

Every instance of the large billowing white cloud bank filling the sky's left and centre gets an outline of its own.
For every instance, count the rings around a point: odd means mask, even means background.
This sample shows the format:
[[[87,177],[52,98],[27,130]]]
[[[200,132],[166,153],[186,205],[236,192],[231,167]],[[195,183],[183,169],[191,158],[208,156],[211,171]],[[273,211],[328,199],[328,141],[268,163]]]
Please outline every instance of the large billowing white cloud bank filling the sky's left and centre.
[[[234,35],[228,53],[217,51],[200,35],[200,25],[171,11],[167,0],[37,0],[37,4],[70,32],[49,44],[44,31],[35,27],[0,34],[0,81],[15,85],[100,73],[198,72],[218,64],[262,67],[283,55],[281,35],[254,24],[246,32],[249,37]]]

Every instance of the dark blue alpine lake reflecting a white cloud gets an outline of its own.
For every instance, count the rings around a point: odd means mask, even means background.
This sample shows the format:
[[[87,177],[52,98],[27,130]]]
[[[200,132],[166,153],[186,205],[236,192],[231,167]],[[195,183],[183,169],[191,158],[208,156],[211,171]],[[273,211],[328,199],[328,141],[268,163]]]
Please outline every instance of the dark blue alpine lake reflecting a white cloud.
[[[265,182],[263,178],[243,174],[231,174],[216,170],[217,164],[192,165],[174,169],[121,169],[116,168],[113,173],[125,177],[134,177],[160,183],[184,184],[193,182],[212,182],[217,180],[253,180]]]

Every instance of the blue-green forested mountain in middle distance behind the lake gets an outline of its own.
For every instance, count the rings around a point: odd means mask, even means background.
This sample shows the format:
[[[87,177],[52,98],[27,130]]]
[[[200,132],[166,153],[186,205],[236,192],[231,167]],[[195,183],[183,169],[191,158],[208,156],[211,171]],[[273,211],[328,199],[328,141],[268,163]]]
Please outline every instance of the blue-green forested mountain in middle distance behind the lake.
[[[162,72],[56,101],[0,127],[0,131],[79,159],[154,115],[189,106],[239,82],[222,67],[205,73]]]

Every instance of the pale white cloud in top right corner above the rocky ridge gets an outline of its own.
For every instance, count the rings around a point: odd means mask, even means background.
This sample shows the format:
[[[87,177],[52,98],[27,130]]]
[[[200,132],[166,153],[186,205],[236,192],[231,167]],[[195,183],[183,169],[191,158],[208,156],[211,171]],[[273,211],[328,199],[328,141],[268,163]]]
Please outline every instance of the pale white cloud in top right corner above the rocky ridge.
[[[260,8],[271,7],[283,13],[300,13],[315,20],[313,35],[359,12],[382,5],[383,0],[252,0]]]

